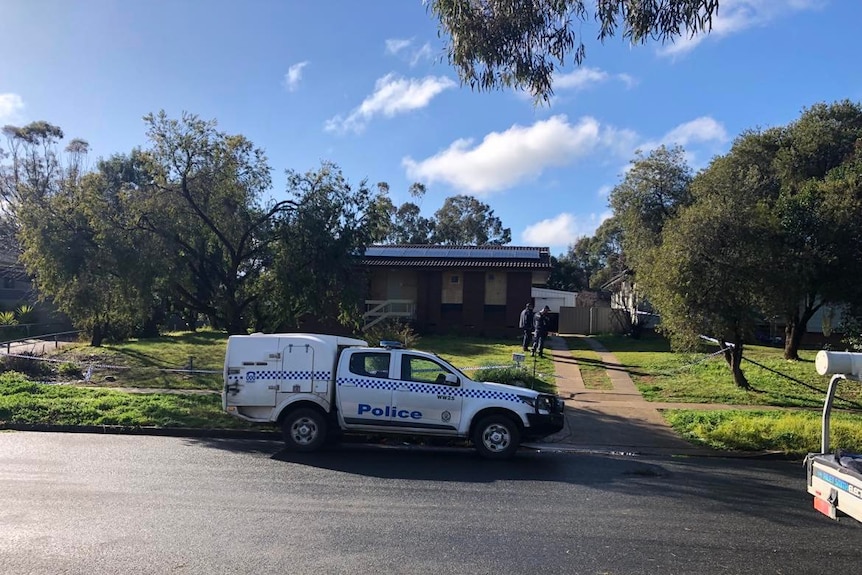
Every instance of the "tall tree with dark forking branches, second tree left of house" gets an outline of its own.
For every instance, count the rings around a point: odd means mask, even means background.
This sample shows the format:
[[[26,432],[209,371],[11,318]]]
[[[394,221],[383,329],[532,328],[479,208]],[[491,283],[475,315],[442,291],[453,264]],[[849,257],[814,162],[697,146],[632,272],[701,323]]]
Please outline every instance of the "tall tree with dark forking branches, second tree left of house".
[[[274,221],[292,201],[263,206],[271,185],[265,154],[193,114],[149,114],[151,184],[135,195],[138,221],[172,258],[161,264],[177,307],[244,333],[260,293],[255,281],[275,241]]]

